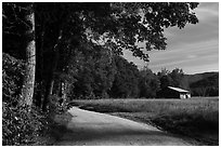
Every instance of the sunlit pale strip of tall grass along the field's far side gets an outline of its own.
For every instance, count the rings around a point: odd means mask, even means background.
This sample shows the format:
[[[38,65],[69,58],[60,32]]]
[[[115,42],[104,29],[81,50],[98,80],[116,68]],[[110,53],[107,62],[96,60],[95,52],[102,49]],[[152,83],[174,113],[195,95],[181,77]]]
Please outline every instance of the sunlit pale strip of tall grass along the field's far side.
[[[82,106],[93,106],[106,109],[106,112],[155,112],[167,113],[200,113],[209,117],[208,113],[219,112],[219,98],[194,98],[194,99],[93,99],[75,100]]]

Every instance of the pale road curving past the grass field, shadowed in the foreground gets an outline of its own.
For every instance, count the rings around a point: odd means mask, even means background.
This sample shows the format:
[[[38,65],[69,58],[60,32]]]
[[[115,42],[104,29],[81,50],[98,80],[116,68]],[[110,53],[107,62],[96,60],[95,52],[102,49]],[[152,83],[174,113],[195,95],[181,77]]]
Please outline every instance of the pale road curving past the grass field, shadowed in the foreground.
[[[65,146],[166,146],[193,145],[154,126],[73,107],[66,131],[55,145]]]

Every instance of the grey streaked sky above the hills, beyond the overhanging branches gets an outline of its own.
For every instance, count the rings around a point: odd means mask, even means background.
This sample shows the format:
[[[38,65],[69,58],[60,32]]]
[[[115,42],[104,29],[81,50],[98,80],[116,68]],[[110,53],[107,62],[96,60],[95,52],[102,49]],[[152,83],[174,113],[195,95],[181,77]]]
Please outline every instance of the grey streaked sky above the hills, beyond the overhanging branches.
[[[144,63],[125,51],[123,57],[138,68],[148,66],[154,72],[162,68],[182,68],[185,73],[199,73],[219,70],[219,3],[199,2],[194,10],[199,23],[187,24],[184,29],[165,29],[167,49],[151,51],[150,63]]]

